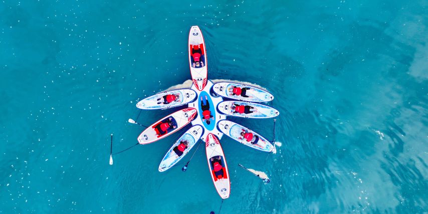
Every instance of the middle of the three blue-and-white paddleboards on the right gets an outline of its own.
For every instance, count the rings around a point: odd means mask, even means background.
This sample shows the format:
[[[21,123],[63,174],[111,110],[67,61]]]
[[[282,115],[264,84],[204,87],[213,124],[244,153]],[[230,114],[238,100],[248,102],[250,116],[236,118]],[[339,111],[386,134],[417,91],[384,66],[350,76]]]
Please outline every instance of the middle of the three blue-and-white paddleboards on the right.
[[[245,118],[271,118],[279,115],[279,111],[270,106],[243,101],[223,101],[217,108],[223,114]]]

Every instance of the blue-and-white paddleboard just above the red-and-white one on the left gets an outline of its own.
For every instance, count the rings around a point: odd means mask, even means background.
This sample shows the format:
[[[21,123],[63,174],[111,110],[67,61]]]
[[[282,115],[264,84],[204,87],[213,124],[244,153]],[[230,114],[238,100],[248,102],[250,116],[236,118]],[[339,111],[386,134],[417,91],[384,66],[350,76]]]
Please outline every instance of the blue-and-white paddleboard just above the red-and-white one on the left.
[[[173,96],[171,96],[173,95]],[[196,98],[196,92],[192,89],[178,89],[165,91],[140,100],[137,103],[139,109],[166,109],[187,104]],[[172,102],[169,99],[174,98]]]

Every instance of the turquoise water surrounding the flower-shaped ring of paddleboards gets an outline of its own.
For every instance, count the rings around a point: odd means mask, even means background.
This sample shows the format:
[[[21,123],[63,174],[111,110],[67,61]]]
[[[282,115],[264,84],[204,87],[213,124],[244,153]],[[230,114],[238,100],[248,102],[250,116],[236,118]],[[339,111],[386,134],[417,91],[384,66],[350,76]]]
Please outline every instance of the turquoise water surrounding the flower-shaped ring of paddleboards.
[[[199,148],[158,172],[180,132],[135,144],[138,100],[190,78],[200,26],[209,79],[275,96],[277,154],[224,136],[222,213],[428,211],[426,1],[0,3],[0,212],[209,213]],[[149,125],[169,110],[142,111]],[[272,119],[233,121],[272,137]],[[238,163],[266,172],[263,182]]]

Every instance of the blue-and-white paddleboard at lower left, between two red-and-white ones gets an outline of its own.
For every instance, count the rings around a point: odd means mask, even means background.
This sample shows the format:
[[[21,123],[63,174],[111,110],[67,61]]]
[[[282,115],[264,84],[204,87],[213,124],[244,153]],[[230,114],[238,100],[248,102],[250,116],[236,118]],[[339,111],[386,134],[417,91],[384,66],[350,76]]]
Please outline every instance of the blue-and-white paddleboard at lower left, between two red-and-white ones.
[[[162,161],[159,164],[159,171],[166,171],[180,161],[196,144],[197,140],[202,136],[203,127],[201,125],[194,125],[189,130],[187,130],[180,138],[171,146],[171,148],[166,152]],[[181,141],[187,141],[187,148],[183,151],[181,156],[174,151],[174,148],[177,147]],[[177,148],[175,148],[177,150]]]

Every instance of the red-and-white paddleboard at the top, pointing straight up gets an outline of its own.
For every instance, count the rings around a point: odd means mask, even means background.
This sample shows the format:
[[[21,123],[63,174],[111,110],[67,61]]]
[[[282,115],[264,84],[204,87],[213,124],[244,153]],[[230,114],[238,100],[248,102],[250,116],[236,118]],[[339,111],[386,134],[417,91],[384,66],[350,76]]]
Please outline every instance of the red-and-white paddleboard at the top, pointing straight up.
[[[205,42],[199,27],[192,26],[189,33],[189,64],[190,74],[196,89],[202,91],[206,85],[207,78],[207,59],[205,51]]]

